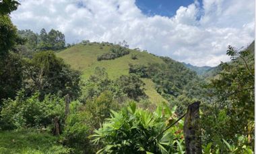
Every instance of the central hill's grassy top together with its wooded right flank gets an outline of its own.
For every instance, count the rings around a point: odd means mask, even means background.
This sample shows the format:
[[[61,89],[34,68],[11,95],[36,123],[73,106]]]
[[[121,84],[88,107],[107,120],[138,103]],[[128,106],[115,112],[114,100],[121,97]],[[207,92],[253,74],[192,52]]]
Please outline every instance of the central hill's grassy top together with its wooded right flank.
[[[176,97],[188,90],[197,79],[197,74],[186,68],[181,62],[171,58],[155,56],[139,49],[129,49],[129,54],[110,60],[99,60],[102,55],[112,58],[112,49],[118,45],[109,43],[84,42],[70,46],[57,52],[57,56],[71,65],[71,68],[82,72],[82,78],[88,79],[97,67],[105,68],[110,79],[129,75],[129,68],[134,67],[133,73],[139,75],[145,83],[145,93],[150,102],[173,102]],[[111,52],[112,51],[112,52]],[[141,76],[141,74],[146,75]],[[188,85],[188,86],[186,86]],[[190,86],[189,86],[190,85]],[[166,95],[167,94],[167,95]]]

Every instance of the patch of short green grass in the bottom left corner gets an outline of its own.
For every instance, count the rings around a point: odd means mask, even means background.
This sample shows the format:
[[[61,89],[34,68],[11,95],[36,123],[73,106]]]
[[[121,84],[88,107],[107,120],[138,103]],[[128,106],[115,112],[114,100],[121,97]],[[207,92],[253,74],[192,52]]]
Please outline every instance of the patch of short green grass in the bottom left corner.
[[[0,131],[0,153],[69,153],[70,149],[58,143],[59,138],[34,129]]]

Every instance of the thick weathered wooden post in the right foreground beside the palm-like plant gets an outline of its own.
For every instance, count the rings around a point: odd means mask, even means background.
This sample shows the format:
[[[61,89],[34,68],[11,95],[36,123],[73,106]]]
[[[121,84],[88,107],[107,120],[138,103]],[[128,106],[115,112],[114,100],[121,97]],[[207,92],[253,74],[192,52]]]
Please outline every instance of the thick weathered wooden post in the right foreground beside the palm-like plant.
[[[184,122],[186,154],[201,154],[201,127],[199,119],[200,102],[194,102],[187,107]]]

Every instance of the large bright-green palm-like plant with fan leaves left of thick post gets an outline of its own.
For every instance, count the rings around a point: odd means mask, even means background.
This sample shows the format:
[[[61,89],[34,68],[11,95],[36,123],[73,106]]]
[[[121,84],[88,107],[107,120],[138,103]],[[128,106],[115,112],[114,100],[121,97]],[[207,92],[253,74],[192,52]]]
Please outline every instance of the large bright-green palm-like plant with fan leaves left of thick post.
[[[111,110],[110,119],[91,136],[94,144],[102,145],[98,153],[183,153],[183,121],[164,133],[175,108],[166,104],[155,112],[136,108],[135,103]]]

